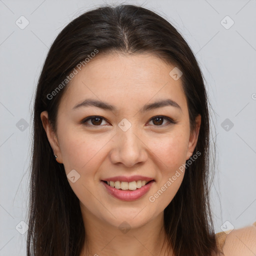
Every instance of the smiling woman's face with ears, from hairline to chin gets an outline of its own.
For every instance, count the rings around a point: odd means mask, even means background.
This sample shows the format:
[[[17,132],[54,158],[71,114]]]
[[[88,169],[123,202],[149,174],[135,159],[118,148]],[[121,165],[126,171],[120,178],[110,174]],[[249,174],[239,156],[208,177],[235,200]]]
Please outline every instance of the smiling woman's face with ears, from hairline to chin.
[[[181,79],[169,74],[173,68],[149,54],[97,55],[72,78],[60,101],[56,137],[44,127],[83,215],[135,228],[162,213],[174,197],[182,164],[196,145],[200,116],[190,133]],[[88,99],[105,104],[82,103]],[[85,120],[89,116],[94,118]],[[125,178],[133,182],[118,182]],[[103,180],[117,181],[117,188]],[[135,189],[143,185],[138,180],[153,181]]]

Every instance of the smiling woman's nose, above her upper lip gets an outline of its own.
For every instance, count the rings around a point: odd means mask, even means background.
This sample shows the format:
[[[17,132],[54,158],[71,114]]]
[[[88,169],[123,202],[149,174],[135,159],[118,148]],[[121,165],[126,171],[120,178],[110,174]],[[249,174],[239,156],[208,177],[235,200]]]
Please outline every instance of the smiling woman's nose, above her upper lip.
[[[131,127],[126,131],[117,130],[114,136],[113,148],[110,151],[110,160],[114,164],[132,167],[137,163],[145,162],[147,158],[146,145],[141,135],[133,132]]]

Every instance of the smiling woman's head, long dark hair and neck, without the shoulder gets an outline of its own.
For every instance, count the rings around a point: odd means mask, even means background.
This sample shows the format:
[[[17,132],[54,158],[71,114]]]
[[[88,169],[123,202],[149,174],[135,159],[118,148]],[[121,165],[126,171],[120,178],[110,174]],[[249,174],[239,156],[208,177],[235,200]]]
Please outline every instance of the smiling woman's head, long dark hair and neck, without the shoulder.
[[[27,255],[223,255],[207,104],[193,53],[156,13],[72,20],[37,84]]]

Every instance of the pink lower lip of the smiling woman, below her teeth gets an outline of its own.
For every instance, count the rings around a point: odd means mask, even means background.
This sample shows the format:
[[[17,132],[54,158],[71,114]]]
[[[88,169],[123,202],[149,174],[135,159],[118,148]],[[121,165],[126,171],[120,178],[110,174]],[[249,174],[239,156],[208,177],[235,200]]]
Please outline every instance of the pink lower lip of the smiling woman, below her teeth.
[[[125,201],[133,201],[140,198],[146,192],[148,192],[148,190],[150,189],[154,181],[150,181],[146,185],[141,186],[140,188],[137,188],[135,190],[121,190],[121,189],[117,189],[115,187],[109,186],[102,180],[100,182],[103,183],[103,185],[106,187],[107,192],[113,195],[114,197],[121,200],[125,200]]]

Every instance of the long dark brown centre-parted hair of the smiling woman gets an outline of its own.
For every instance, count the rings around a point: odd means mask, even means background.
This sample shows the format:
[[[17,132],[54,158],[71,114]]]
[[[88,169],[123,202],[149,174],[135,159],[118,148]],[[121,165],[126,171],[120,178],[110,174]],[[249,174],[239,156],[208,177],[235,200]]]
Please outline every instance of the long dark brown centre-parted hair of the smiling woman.
[[[217,252],[209,205],[209,113],[203,76],[194,54],[180,33],[164,18],[141,6],[102,5],[67,24],[52,43],[38,80],[34,100],[27,255],[79,255],[86,240],[79,200],[63,164],[57,163],[43,129],[40,113],[56,131],[61,96],[68,83],[49,99],[73,68],[91,52],[152,53],[182,71],[190,129],[201,115],[194,152],[172,201],[164,209],[168,244],[177,256],[209,256]],[[52,95],[52,94],[51,94]]]

